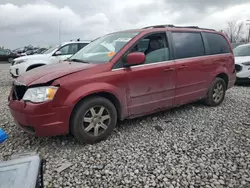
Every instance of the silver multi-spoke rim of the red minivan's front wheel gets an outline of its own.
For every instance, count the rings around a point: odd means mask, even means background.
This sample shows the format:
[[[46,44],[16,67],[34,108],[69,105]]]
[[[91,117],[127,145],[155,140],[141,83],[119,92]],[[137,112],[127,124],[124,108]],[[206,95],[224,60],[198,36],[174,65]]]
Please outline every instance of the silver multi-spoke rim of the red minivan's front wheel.
[[[91,136],[99,136],[108,128],[110,120],[110,113],[105,107],[92,107],[83,117],[84,131]]]

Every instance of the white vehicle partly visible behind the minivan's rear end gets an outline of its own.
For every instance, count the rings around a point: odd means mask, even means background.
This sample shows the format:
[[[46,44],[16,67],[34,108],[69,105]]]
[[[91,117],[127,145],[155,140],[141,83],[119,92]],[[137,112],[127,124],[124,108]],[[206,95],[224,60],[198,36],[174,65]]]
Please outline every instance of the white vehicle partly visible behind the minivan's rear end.
[[[250,43],[234,49],[237,83],[250,83]]]

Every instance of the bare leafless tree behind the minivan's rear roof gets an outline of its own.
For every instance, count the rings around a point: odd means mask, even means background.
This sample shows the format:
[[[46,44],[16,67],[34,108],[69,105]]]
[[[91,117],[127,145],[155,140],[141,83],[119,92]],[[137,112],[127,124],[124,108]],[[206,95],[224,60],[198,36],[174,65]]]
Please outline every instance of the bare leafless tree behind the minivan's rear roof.
[[[227,28],[223,33],[228,37],[231,43],[242,40],[243,22],[237,23],[236,21],[230,21],[227,23]]]

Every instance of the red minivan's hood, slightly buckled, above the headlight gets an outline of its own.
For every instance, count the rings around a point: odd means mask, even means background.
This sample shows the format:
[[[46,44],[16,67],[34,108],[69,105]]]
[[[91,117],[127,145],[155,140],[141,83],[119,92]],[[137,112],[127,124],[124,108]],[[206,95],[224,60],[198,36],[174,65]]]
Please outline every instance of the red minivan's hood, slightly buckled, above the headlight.
[[[55,80],[57,78],[66,76],[68,74],[88,69],[94,66],[97,65],[65,61],[62,63],[45,65],[30,70],[22,74],[20,77],[18,77],[17,81],[27,86],[35,84],[43,84],[51,80]]]

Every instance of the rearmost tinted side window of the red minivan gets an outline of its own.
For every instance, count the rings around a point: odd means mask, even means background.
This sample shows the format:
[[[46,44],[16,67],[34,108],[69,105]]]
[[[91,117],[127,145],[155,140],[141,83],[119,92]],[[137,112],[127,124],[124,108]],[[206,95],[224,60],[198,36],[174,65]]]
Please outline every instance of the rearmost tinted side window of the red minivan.
[[[204,33],[204,35],[209,47],[208,55],[230,53],[228,43],[223,36],[216,33]]]

